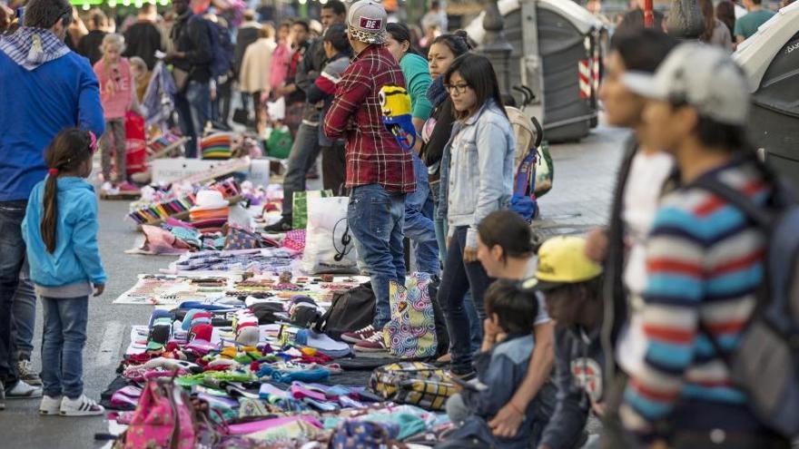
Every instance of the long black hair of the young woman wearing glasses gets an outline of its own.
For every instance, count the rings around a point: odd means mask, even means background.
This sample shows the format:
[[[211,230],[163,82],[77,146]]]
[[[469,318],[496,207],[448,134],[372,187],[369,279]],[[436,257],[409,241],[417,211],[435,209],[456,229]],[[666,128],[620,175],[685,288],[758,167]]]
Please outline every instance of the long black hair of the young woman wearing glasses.
[[[502,102],[502,95],[499,93],[497,73],[494,72],[494,66],[486,56],[473,53],[461,54],[449,66],[447,73],[444,73],[444,83],[449,84],[449,78],[452,73],[456,72],[460,73],[463,81],[474,90],[477,96],[475,104],[478,108],[493,99],[499,110],[508,117],[508,112],[505,112],[505,104]],[[469,112],[455,111],[454,114],[456,118],[462,120],[468,117]]]

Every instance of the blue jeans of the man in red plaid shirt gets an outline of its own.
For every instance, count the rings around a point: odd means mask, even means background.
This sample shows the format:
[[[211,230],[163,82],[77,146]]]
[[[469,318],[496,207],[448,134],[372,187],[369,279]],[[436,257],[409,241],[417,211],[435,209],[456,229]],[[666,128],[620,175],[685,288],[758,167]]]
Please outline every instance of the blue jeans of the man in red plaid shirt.
[[[352,189],[347,221],[377,299],[372,323],[376,329],[382,329],[391,318],[389,282],[405,285],[404,219],[404,193],[392,193],[380,184]]]

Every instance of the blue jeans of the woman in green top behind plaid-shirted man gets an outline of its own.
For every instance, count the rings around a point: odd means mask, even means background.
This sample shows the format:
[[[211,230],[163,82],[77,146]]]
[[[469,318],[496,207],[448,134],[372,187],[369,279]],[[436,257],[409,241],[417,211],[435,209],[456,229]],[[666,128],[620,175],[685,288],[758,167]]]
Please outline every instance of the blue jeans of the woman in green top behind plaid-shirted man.
[[[433,199],[430,197],[428,168],[413,153],[413,172],[416,191],[405,198],[405,236],[412,240],[419,271],[438,276],[441,270],[439,243],[433,226]]]

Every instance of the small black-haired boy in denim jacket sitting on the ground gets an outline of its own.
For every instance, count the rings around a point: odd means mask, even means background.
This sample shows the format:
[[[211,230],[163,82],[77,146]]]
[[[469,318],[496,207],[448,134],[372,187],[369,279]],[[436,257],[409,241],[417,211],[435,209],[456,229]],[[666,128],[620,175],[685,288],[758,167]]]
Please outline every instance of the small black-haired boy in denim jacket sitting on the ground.
[[[484,337],[480,353],[475,357],[478,382],[469,384],[447,401],[447,414],[459,425],[449,442],[470,441],[476,447],[528,448],[538,442],[540,431],[547,425],[542,395],[554,395],[554,389],[542,387],[538,396],[520,410],[524,422],[513,438],[498,438],[488,427],[488,420],[497,414],[522,383],[528,371],[535,346],[533,327],[538,316],[535,291],[525,290],[518,282],[497,280],[486,291]],[[477,441],[475,441],[477,440]],[[450,447],[455,447],[450,445]]]

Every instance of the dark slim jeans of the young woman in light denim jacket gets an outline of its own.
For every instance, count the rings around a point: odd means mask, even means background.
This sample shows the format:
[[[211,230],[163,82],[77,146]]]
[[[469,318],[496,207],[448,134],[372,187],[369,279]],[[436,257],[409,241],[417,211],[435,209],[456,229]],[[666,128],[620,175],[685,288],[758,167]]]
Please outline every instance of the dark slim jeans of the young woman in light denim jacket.
[[[452,368],[459,371],[471,369],[472,332],[471,322],[465,307],[465,296],[471,290],[474,306],[477,309],[478,323],[482,325],[486,318],[483,297],[493,279],[488,278],[485,268],[480,262],[463,261],[463,249],[466,246],[466,232],[469,228],[461,226],[455,229],[449,240],[447,261],[444,264],[444,276],[439,287],[439,304],[447,318],[449,331],[449,347],[452,355]]]

